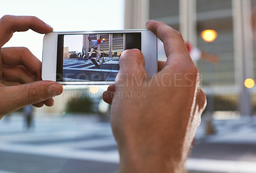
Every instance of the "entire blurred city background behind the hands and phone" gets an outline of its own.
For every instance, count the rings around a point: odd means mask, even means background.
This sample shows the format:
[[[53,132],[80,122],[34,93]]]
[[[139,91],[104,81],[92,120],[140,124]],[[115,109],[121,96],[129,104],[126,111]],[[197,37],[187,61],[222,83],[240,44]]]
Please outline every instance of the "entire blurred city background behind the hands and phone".
[[[0,16],[35,15],[54,31],[143,29],[182,33],[208,105],[188,172],[256,172],[256,0],[6,1]],[[4,47],[42,60],[43,35],[15,33]],[[166,59],[158,43],[158,59]],[[54,107],[26,107],[0,121],[0,173],[117,172],[118,152],[101,99],[108,86],[65,87]]]

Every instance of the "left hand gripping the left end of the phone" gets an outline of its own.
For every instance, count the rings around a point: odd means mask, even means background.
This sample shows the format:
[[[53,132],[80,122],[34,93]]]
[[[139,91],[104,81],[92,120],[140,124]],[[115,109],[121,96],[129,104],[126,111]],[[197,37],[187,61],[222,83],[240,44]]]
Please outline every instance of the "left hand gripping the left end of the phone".
[[[28,49],[1,48],[13,33],[28,29],[41,34],[52,32],[52,27],[36,17],[5,15],[0,19],[0,119],[26,105],[52,106],[52,97],[63,91],[57,82],[35,82],[42,80],[42,63]]]

